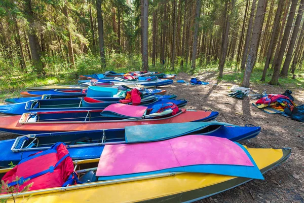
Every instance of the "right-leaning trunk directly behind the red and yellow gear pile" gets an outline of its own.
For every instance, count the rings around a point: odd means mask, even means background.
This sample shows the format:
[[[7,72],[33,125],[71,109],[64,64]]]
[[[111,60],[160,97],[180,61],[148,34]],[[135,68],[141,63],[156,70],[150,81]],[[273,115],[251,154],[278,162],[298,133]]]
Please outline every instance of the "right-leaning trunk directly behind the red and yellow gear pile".
[[[271,84],[271,85],[278,85],[279,84],[281,64],[282,64],[283,56],[284,56],[285,49],[286,49],[286,46],[287,46],[289,33],[290,33],[290,30],[291,30],[291,27],[292,27],[292,22],[293,22],[297,2],[298,2],[298,0],[292,0],[292,3],[291,3],[291,7],[290,7],[290,11],[289,11],[285,31],[284,31],[284,37],[283,37],[283,40],[282,40],[282,43],[281,43],[281,46],[280,46],[280,51],[279,51],[278,58],[275,61],[274,73],[273,73],[271,81],[269,82],[269,84]]]

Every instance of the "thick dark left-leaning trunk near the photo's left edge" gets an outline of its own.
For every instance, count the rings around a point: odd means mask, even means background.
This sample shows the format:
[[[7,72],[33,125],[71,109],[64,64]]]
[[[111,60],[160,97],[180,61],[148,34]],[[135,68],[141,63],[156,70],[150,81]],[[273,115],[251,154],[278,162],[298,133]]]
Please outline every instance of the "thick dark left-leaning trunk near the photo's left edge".
[[[29,40],[29,47],[32,56],[32,64],[36,69],[38,74],[42,74],[43,64],[41,61],[41,53],[40,53],[40,46],[39,41],[36,36],[36,29],[35,29],[35,17],[32,11],[31,0],[25,0],[25,13],[27,14],[27,21],[29,22],[29,32],[28,32],[28,40]]]

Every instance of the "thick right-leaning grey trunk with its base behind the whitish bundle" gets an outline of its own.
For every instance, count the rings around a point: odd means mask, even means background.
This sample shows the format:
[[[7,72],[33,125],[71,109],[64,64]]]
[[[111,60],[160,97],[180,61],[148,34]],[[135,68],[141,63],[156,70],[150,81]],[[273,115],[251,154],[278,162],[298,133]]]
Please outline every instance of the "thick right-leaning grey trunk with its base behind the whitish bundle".
[[[267,0],[259,0],[257,3],[257,9],[254,19],[254,27],[252,30],[251,42],[249,53],[246,62],[246,69],[244,72],[244,77],[242,81],[242,87],[249,87],[250,86],[250,75],[253,69],[254,61],[256,60],[256,50],[258,48],[258,36],[260,32],[260,26],[262,23],[263,18],[263,11],[265,6],[265,1]]]

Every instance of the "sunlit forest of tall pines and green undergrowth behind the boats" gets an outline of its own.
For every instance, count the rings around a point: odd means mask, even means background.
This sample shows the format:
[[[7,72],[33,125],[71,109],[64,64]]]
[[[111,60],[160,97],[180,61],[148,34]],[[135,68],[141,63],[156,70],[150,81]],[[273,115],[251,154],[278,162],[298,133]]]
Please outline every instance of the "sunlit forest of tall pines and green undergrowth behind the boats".
[[[3,0],[0,91],[137,70],[304,87],[304,0]],[[17,92],[17,91],[16,91]]]

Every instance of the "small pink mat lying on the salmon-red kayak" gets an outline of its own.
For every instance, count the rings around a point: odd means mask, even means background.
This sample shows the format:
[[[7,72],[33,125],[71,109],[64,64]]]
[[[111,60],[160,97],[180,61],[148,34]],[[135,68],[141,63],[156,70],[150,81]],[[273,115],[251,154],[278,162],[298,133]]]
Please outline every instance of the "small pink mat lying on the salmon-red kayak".
[[[147,107],[132,106],[125,104],[112,104],[106,107],[103,112],[110,111],[128,117],[141,117],[147,110]]]

